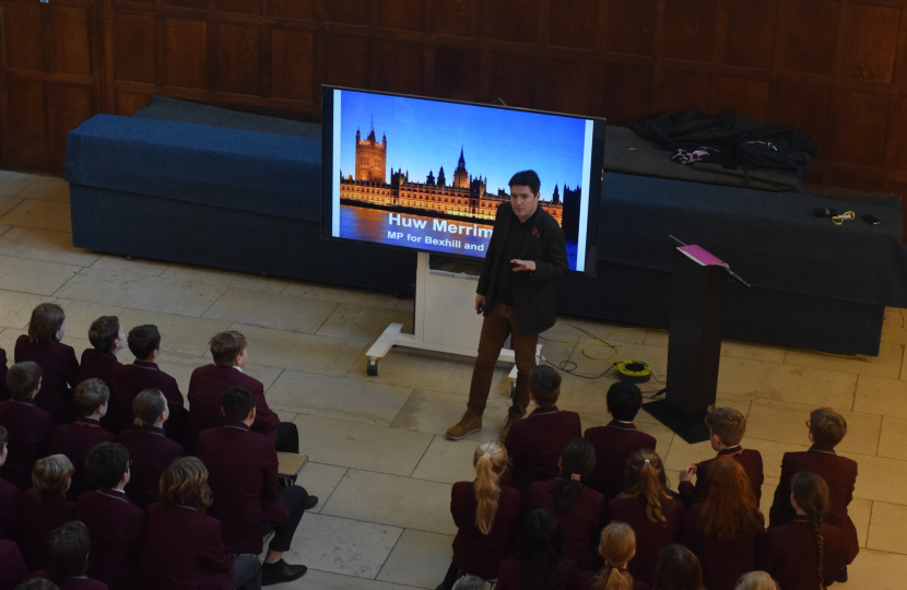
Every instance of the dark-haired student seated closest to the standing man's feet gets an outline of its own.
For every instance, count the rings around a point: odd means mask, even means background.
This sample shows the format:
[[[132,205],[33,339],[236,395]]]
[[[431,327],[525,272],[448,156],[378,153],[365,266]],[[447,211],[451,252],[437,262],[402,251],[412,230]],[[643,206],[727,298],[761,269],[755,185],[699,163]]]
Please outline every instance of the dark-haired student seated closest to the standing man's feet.
[[[514,484],[526,494],[532,482],[557,476],[557,460],[564,446],[581,436],[579,414],[557,409],[561,375],[547,365],[529,373],[529,399],[535,404],[531,414],[517,422],[507,433],[504,446],[514,462]]]

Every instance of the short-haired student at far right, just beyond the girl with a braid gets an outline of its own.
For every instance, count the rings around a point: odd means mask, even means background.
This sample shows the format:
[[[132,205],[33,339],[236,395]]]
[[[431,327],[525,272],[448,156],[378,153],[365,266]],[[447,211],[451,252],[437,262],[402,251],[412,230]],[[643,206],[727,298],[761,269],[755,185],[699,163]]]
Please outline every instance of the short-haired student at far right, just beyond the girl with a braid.
[[[835,452],[835,447],[847,434],[847,421],[831,408],[820,408],[812,411],[806,425],[812,447],[808,451],[786,452],[781,459],[781,479],[768,512],[769,526],[787,524],[793,520],[790,481],[803,471],[815,473],[828,486],[828,511],[825,512],[824,521],[840,529],[844,534],[844,557],[849,564],[860,551],[857,528],[847,514],[857,483],[857,462]],[[835,581],[847,581],[847,566],[840,570]]]

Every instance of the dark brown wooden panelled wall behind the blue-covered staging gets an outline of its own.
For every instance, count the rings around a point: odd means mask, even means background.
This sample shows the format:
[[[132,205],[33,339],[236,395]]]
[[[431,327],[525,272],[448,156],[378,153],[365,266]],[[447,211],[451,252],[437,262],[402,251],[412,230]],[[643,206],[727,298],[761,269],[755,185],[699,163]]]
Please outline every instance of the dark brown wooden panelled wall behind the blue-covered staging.
[[[318,120],[320,85],[608,117],[737,109],[813,181],[907,189],[907,0],[2,0],[2,165],[152,94]]]

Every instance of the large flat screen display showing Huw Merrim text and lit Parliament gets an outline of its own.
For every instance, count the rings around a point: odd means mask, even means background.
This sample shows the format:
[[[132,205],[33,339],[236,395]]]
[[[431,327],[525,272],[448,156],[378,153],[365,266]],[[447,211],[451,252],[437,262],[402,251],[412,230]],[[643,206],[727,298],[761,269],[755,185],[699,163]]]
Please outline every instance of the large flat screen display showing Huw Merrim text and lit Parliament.
[[[323,90],[326,237],[484,258],[519,170],[593,272],[604,120],[357,90]]]

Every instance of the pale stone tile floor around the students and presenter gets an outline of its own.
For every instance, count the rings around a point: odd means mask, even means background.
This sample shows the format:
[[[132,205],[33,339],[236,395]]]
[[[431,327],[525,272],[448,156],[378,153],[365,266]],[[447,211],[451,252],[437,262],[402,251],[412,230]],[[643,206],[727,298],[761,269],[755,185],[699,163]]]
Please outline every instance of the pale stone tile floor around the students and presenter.
[[[89,346],[89,324],[101,315],[119,316],[127,329],[152,322],[163,335],[160,364],[185,392],[192,369],[209,362],[209,337],[243,331],[249,373],[264,382],[282,418],[299,427],[302,451],[310,458],[301,483],[321,498],[288,555],[310,571],[285,588],[434,588],[456,532],[449,484],[471,477],[474,445],[497,435],[507,408],[506,369],[497,370],[485,429],[447,441],[444,430],[466,406],[469,359],[393,351],[380,376],[365,373],[364,353],[384,327],[411,326],[412,299],[80,250],[72,247],[68,201],[68,186],[58,178],[0,172],[0,346],[12,352],[42,302],[66,309],[66,342],[76,352]],[[893,590],[907,578],[906,316],[886,310],[877,357],[722,346],[719,403],[749,416],[744,445],[765,458],[764,510],[781,455],[809,444],[803,422],[810,410],[845,412],[849,433],[840,451],[860,465],[851,515],[863,547],[845,586],[858,589]],[[551,361],[574,361],[590,375],[606,368],[611,350],[579,328],[620,345],[619,358],[647,359],[664,379],[664,332],[562,321],[543,334]],[[121,361],[132,361],[128,350]],[[561,406],[580,412],[586,427],[602,424],[611,381],[565,376]],[[707,444],[687,445],[645,413],[638,423],[658,438],[673,483],[678,470],[711,456]]]

